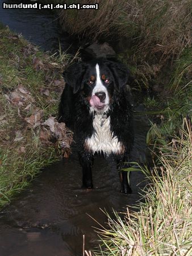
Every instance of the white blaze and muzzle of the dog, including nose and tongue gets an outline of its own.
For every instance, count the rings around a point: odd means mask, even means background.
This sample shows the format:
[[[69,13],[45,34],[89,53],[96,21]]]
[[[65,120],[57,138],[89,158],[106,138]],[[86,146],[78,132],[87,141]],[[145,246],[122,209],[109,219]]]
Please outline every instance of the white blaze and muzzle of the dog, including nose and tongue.
[[[96,112],[104,113],[108,110],[108,104],[110,102],[110,99],[108,96],[107,88],[105,85],[103,85],[103,82],[101,80],[101,74],[98,64],[96,64],[95,69],[96,82],[91,94],[90,111],[93,112],[95,110]]]

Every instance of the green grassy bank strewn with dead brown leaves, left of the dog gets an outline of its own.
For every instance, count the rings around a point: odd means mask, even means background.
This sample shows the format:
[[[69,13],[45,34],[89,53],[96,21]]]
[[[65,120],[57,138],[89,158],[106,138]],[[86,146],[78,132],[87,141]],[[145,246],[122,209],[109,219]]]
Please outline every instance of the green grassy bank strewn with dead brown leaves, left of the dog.
[[[0,207],[69,150],[72,134],[55,119],[68,61],[0,27]]]

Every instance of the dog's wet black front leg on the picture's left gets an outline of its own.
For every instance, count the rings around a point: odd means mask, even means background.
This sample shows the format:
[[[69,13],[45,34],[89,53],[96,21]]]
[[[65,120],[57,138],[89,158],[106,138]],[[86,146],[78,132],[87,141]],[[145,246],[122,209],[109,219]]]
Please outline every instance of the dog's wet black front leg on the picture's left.
[[[93,188],[92,172],[93,154],[89,152],[79,153],[80,163],[82,166],[82,188]]]

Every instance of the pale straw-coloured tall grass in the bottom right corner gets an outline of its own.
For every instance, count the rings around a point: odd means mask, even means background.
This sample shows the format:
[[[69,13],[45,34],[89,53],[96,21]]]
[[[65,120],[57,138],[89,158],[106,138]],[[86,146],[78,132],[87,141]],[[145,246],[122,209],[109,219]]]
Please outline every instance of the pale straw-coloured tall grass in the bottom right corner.
[[[185,129],[184,129],[185,127]],[[191,255],[191,127],[183,122],[181,137],[164,146],[149,177],[139,212],[127,209],[124,219],[108,216],[108,228],[98,229],[100,249],[94,255]]]

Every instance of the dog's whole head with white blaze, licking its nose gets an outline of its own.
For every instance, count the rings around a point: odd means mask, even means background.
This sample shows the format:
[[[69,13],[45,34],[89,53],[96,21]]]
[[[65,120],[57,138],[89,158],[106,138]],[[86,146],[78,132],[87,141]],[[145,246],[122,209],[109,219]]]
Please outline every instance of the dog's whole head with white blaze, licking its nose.
[[[73,93],[81,93],[91,111],[106,112],[115,92],[120,92],[128,80],[128,69],[105,59],[90,63],[75,63],[64,72],[66,83]]]

